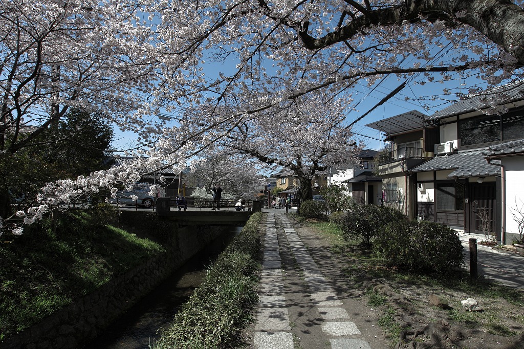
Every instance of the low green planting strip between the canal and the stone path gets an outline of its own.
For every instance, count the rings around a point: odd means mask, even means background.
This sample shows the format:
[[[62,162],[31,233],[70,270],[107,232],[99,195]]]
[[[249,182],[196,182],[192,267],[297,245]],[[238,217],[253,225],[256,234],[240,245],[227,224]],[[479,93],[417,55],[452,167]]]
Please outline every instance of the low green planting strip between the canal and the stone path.
[[[258,301],[261,217],[260,212],[251,216],[152,348],[219,348],[241,342],[238,334],[252,320],[250,310]]]

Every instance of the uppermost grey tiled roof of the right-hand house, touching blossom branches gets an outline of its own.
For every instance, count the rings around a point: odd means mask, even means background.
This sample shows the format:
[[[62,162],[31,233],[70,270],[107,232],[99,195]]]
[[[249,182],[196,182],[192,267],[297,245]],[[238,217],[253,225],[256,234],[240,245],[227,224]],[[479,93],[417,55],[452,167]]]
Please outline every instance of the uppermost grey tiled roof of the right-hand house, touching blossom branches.
[[[516,88],[508,88],[507,86],[501,86],[500,93],[505,93],[508,95],[508,99],[504,99],[500,104],[506,104],[511,101],[522,100],[524,98],[524,88],[518,85]],[[495,92],[492,94],[477,95],[467,100],[461,100],[455,104],[450,105],[449,107],[444,108],[441,111],[436,112],[431,115],[431,119],[441,119],[443,117],[448,117],[452,115],[459,115],[468,112],[473,112],[475,110],[487,108],[490,105],[488,101],[489,97],[496,95]]]

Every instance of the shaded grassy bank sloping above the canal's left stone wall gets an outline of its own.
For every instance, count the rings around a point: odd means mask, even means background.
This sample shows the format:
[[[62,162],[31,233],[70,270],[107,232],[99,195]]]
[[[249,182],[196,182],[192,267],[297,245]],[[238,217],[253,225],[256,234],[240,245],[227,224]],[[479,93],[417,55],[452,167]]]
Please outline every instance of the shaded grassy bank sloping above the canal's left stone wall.
[[[165,251],[110,224],[106,206],[43,220],[19,237],[0,239],[0,340],[41,321]]]

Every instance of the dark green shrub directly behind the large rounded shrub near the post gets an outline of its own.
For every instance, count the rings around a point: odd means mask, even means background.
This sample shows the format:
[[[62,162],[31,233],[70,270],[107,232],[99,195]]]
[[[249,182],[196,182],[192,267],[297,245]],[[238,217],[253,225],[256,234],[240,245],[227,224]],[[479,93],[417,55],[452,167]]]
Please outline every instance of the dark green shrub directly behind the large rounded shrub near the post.
[[[352,204],[350,210],[340,218],[339,224],[346,241],[357,240],[369,246],[381,225],[403,219],[402,212],[396,209]]]

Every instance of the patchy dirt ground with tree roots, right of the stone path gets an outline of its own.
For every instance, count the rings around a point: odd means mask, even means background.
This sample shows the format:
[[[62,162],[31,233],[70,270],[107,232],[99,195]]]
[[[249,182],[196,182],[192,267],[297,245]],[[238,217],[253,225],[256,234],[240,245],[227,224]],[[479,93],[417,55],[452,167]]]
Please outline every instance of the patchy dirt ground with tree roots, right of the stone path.
[[[373,272],[377,266],[367,266],[366,260],[355,258],[350,247],[337,245],[305,222],[291,221],[336,292],[353,300],[355,313],[365,315],[357,326],[375,333],[380,329],[379,317],[390,315],[394,325],[389,333],[379,330],[383,339],[390,335],[389,347],[524,349],[524,290],[486,285],[478,292],[478,287],[442,286],[413,277],[377,277]],[[370,289],[382,295],[385,303],[367,306]],[[447,306],[434,306],[429,302],[430,295],[443,298]],[[482,311],[464,310],[461,300],[467,298],[474,298]]]

